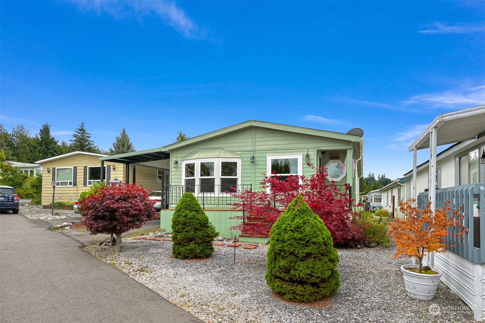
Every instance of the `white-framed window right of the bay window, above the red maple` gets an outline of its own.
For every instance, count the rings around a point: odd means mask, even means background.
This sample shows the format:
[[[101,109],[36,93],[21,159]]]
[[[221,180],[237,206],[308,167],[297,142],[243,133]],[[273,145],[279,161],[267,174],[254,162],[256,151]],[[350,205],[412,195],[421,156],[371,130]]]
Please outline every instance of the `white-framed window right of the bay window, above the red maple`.
[[[266,156],[266,176],[286,180],[291,175],[302,175],[302,154]]]

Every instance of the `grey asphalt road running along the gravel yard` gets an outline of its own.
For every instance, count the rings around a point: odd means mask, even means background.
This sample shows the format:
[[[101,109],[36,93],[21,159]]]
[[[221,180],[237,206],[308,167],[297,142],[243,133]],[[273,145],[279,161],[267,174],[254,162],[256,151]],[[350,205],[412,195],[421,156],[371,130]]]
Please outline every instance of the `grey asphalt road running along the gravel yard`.
[[[0,213],[0,322],[203,321],[50,230]]]

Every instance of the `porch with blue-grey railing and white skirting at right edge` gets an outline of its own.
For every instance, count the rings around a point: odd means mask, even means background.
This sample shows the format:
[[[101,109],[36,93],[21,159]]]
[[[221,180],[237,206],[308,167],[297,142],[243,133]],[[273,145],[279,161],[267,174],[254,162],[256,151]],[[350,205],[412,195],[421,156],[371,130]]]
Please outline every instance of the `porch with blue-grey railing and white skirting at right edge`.
[[[420,193],[418,207],[423,208],[428,199],[429,192]],[[477,321],[482,321],[485,317],[485,184],[436,190],[436,207],[442,207],[446,201],[463,216],[461,223],[469,232],[456,237],[458,229],[450,228],[446,243],[454,246],[448,247],[445,253],[428,254],[423,262],[442,271],[443,283],[475,311]]]

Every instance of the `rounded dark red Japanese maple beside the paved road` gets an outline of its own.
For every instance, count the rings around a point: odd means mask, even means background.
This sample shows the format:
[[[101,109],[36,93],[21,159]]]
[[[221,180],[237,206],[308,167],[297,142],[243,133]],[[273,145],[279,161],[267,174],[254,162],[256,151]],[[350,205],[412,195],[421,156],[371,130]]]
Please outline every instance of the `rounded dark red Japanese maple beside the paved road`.
[[[120,251],[121,234],[143,226],[147,221],[157,218],[153,201],[143,186],[120,183],[118,187],[104,186],[97,195],[81,200],[84,210],[82,216],[91,234],[105,233],[116,236],[115,252]]]

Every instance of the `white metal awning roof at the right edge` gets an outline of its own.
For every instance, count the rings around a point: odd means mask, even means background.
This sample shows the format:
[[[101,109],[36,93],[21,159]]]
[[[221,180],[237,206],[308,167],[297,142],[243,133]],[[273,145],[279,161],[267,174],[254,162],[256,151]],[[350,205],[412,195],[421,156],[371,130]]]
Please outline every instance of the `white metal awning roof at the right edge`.
[[[409,151],[430,147],[431,131],[436,129],[436,146],[476,139],[485,131],[485,105],[450,113],[438,114],[436,119],[420,134]]]

